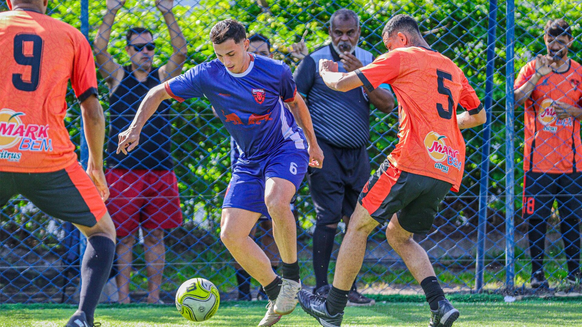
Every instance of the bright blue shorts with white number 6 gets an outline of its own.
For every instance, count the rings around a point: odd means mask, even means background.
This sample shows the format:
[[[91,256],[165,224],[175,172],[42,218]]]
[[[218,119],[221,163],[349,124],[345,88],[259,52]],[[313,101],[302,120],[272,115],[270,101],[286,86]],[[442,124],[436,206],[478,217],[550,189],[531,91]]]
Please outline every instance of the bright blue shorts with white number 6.
[[[239,158],[233,165],[222,208],[249,210],[270,218],[265,205],[265,182],[279,177],[293,183],[297,191],[307,172],[308,161],[307,150],[296,148],[279,150],[260,161]]]

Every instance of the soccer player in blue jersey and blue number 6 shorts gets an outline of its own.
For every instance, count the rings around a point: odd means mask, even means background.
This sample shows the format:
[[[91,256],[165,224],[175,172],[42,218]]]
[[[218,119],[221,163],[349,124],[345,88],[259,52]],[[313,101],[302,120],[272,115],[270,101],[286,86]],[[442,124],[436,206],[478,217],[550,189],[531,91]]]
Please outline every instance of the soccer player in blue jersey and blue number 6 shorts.
[[[259,326],[271,326],[293,311],[301,289],[297,230],[289,203],[307,166],[321,168],[324,155],[289,66],[247,52],[244,26],[233,19],[212,27],[210,40],[218,59],[152,88],[129,129],[119,134],[117,151],[127,153],[136,147],[141,128],[164,99],[210,100],[240,152],[222,205],[221,239],[264,287],[269,304]],[[261,215],[273,221],[283,262],[281,278],[249,237]]]

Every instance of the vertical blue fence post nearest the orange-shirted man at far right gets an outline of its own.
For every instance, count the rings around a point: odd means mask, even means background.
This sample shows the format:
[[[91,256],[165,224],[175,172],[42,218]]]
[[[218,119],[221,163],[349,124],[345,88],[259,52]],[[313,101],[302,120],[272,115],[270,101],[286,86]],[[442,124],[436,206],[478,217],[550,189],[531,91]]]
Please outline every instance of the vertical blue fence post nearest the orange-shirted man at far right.
[[[506,58],[505,58],[505,287],[513,289],[515,278],[515,205],[514,205],[514,98],[513,98],[513,57],[515,43],[515,3],[507,2],[506,17]]]

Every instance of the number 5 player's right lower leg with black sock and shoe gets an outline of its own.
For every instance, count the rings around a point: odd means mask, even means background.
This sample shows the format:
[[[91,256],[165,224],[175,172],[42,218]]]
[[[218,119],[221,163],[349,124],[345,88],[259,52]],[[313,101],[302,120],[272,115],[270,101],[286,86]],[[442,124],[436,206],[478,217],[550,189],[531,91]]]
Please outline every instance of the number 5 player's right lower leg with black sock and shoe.
[[[427,252],[424,251],[414,239],[413,233],[404,230],[398,222],[398,217],[392,216],[388,228],[386,228],[386,239],[390,246],[400,255],[404,264],[409,269],[420,286],[423,287],[427,302],[431,307],[430,327],[450,327],[459,318],[459,310],[445,298],[441,285],[435,276],[434,269]]]

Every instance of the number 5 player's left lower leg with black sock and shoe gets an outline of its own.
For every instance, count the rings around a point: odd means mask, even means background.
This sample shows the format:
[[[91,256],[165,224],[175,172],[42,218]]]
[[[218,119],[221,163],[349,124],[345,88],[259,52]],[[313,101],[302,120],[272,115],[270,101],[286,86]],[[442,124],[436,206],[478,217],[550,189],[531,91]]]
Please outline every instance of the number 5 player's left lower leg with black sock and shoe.
[[[347,297],[364,261],[368,235],[376,226],[378,222],[372,219],[364,207],[357,204],[350,218],[350,228],[347,229],[339,248],[333,286],[327,299],[306,290],[299,292],[299,303],[303,310],[317,319],[322,326],[334,327],[342,324]]]

